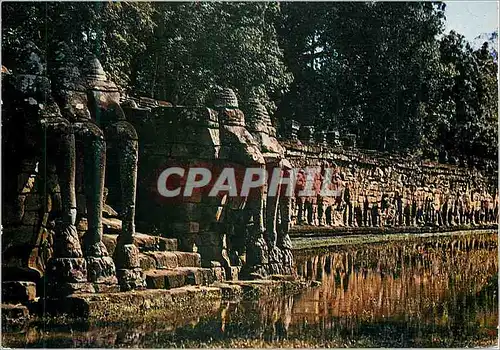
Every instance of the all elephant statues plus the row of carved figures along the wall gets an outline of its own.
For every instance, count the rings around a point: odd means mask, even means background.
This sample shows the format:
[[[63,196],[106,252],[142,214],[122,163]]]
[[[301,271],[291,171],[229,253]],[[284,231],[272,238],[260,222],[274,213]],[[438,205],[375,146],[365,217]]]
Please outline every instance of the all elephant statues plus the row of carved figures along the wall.
[[[65,294],[112,291],[118,285],[121,290],[144,288],[139,251],[133,244],[139,141],[124,112],[137,106],[129,103],[122,109],[118,87],[95,57],[76,67],[74,58],[61,45],[51,71],[46,72],[37,48],[28,44],[25,51],[25,64],[14,67],[16,74],[7,70],[2,73],[3,122],[11,133],[7,136],[12,145],[21,150],[16,154],[39,159],[56,169],[61,212],[53,257],[47,267],[51,288]],[[238,160],[246,167],[291,169],[266,108],[256,98],[246,105],[245,118],[231,89],[218,90],[210,103],[221,135],[219,159]],[[16,139],[18,134],[23,137]],[[113,257],[108,256],[102,242],[107,155],[116,158],[121,189],[122,231]],[[15,158],[10,160],[21,160]],[[40,169],[44,168],[42,164]],[[16,171],[12,169],[6,171]],[[88,221],[83,247],[75,227],[77,174],[83,174]],[[39,175],[43,182],[43,172]],[[342,186],[338,177],[335,181],[342,188],[335,198],[272,196],[267,195],[266,185],[257,189],[255,196],[239,203],[245,209],[229,222],[234,234],[229,234],[223,256],[234,262],[238,260],[234,255],[244,253],[243,272],[247,276],[292,274],[288,235],[292,220],[332,226],[453,225],[492,222],[498,214],[498,200],[493,205],[491,201],[477,205],[482,201],[473,197],[476,204],[469,205],[460,200],[461,196],[442,201],[434,195],[403,198],[396,194],[373,201],[354,193],[354,187]]]

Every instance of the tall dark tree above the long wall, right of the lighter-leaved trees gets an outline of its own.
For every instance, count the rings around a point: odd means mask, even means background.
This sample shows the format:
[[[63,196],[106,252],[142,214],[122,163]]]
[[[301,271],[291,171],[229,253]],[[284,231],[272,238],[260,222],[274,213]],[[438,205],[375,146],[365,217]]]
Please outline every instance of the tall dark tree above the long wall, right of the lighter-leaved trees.
[[[369,148],[418,145],[443,10],[439,3],[286,4],[280,33],[295,81],[283,113],[356,133]],[[315,110],[304,116],[303,106]]]

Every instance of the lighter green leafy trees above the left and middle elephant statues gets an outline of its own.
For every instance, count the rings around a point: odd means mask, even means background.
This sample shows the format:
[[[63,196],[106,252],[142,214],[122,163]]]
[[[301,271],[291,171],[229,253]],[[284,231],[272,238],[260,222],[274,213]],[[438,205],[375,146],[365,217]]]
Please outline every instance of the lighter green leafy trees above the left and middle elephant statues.
[[[274,28],[276,3],[2,6],[2,53],[13,68],[26,41],[49,63],[64,42],[75,58],[97,55],[125,90],[174,104],[205,103],[211,89],[224,85],[242,99],[258,94],[274,107],[290,80]]]

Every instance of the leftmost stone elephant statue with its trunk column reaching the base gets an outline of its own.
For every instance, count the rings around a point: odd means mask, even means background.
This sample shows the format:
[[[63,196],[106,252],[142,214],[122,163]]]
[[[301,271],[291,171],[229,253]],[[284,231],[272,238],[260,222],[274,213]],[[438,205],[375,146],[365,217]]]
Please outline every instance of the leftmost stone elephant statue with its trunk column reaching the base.
[[[71,294],[76,291],[93,292],[87,282],[87,261],[83,257],[75,227],[75,137],[70,121],[62,115],[54,101],[50,80],[44,74],[39,51],[28,43],[25,47],[26,65],[3,83],[7,114],[12,118],[22,116],[27,132],[23,157],[40,160],[41,169],[54,166],[61,192],[61,212],[56,223],[53,255],[46,267],[49,294]],[[12,131],[12,130],[11,130]],[[44,171],[41,171],[43,183]],[[113,266],[114,272],[114,266]]]

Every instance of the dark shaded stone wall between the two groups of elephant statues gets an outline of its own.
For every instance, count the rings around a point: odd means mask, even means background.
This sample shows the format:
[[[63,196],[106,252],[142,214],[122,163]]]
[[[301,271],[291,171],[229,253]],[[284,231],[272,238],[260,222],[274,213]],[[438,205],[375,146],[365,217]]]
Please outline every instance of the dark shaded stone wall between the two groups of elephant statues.
[[[157,190],[158,176],[168,167],[215,166],[220,148],[215,112],[160,106],[125,112],[140,138],[138,231],[179,238],[180,249],[200,252],[204,266],[221,260],[221,230],[216,226],[222,208],[217,199],[201,191],[167,199]]]

